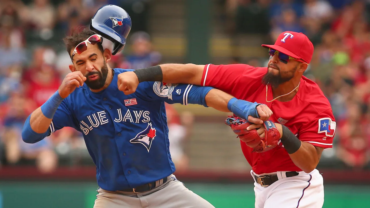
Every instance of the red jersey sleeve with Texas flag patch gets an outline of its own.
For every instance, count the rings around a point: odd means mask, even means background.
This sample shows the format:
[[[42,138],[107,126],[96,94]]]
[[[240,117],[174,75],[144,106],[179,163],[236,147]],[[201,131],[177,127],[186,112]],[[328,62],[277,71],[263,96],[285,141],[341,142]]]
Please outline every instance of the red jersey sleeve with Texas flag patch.
[[[333,111],[328,109],[299,130],[298,137],[317,147],[332,148],[335,128]]]

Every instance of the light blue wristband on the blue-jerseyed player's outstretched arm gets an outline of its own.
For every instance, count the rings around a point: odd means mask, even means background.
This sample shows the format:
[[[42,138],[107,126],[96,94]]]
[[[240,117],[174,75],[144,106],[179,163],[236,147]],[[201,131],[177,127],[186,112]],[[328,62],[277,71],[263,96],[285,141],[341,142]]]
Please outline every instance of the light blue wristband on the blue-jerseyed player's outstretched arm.
[[[258,105],[260,105],[260,103],[257,102],[251,103],[245,100],[238,100],[237,98],[234,97],[229,100],[228,109],[236,116],[244,118],[248,121],[248,115],[255,118],[259,118],[256,109]]]

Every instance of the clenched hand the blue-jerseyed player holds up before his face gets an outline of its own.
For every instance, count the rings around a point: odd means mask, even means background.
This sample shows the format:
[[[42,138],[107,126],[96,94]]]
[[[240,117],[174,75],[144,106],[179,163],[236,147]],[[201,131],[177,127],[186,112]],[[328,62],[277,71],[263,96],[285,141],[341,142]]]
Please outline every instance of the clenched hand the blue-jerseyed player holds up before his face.
[[[86,77],[83,76],[81,71],[68,73],[67,76],[65,76],[62,84],[59,86],[58,92],[60,97],[68,97],[68,95],[70,95],[76,89],[76,87],[84,85],[84,81],[86,81]]]

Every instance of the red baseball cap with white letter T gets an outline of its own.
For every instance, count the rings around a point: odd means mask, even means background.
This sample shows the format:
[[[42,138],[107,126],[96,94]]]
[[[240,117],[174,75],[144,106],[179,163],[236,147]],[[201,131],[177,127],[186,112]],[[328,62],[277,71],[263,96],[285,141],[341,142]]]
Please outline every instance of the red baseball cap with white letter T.
[[[313,44],[303,33],[285,31],[277,37],[274,45],[262,45],[287,54],[293,58],[310,63],[313,55]]]

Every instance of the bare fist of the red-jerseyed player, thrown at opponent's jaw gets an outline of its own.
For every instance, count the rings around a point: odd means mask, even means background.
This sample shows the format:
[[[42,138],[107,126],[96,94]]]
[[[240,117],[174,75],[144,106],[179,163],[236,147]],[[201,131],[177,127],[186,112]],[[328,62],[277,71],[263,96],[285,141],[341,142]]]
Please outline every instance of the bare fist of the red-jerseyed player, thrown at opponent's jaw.
[[[138,77],[133,71],[126,71],[121,74],[118,74],[117,81],[118,90],[125,93],[125,95],[135,93],[138,85],[139,85]]]

